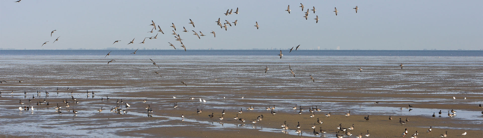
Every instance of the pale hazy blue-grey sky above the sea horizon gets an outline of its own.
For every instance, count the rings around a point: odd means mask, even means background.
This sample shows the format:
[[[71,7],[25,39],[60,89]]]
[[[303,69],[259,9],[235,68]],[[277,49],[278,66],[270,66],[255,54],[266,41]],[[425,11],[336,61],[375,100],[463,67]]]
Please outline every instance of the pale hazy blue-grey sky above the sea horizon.
[[[291,48],[456,50],[483,48],[483,0],[1,0],[0,48]],[[299,3],[315,6],[305,20]],[[291,14],[286,11],[290,5]],[[355,6],[359,10],[355,13]],[[240,14],[224,15],[227,9]],[[334,7],[339,14],[336,16]],[[319,23],[315,23],[315,15]],[[227,31],[221,18],[238,25]],[[195,22],[191,26],[189,19]],[[165,34],[157,39],[151,20]],[[260,26],[256,29],[255,22]],[[183,32],[185,27],[189,32]],[[53,33],[52,37],[50,32]],[[207,36],[198,39],[191,30]],[[211,31],[216,32],[213,38]],[[52,43],[59,37],[59,41]],[[128,44],[133,38],[134,44]],[[114,41],[121,40],[113,44]],[[47,44],[43,45],[43,42]]]

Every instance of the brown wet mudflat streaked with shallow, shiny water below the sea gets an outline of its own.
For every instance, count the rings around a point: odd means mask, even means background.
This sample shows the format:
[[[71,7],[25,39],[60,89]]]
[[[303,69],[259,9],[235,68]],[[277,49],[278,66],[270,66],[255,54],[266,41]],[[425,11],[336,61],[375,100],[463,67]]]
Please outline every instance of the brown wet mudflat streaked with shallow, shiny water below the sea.
[[[1,61],[5,64],[0,66],[1,79],[8,82],[0,84],[0,117],[4,120],[0,122],[0,130],[7,133],[0,137],[302,138],[314,137],[310,127],[319,118],[324,123],[316,124],[315,130],[319,132],[322,127],[328,138],[335,138],[339,124],[345,128],[354,124],[355,130],[349,131],[353,133],[349,138],[365,135],[367,130],[369,138],[401,137],[405,128],[409,131],[407,137],[419,131],[418,138],[438,138],[448,131],[448,137],[454,138],[466,131],[466,137],[483,138],[483,108],[478,108],[483,100],[483,63],[468,61],[468,57],[291,58],[296,62],[250,59],[255,57],[236,62],[229,56],[223,56],[227,61],[219,61],[219,56],[166,57],[177,61],[158,62],[162,65],[158,69],[150,61],[144,61],[143,56],[119,57],[124,60],[109,66],[104,65],[102,58],[92,56],[56,57],[46,63],[47,59],[32,58],[35,64],[17,64],[14,61],[20,57],[6,56]],[[404,69],[395,66],[399,60],[408,63]],[[360,65],[361,61],[370,62]],[[288,63],[296,77],[287,71]],[[267,73],[265,66],[270,68]],[[162,77],[151,70],[160,72]],[[315,82],[309,79],[309,74]],[[15,83],[17,80],[23,82]],[[40,97],[37,90],[41,90]],[[87,97],[86,90],[95,92],[95,97],[92,94]],[[24,95],[24,91],[28,94]],[[45,91],[50,93],[47,97]],[[62,115],[57,114],[52,108],[56,104],[66,106],[63,99],[72,102],[71,92],[80,103],[71,103],[68,109],[62,108]],[[32,95],[36,98],[32,99]],[[101,101],[101,97],[110,100]],[[50,106],[35,105],[44,98]],[[199,102],[199,98],[207,102]],[[118,99],[131,105],[125,109],[125,104],[119,103],[127,114],[109,111]],[[142,103],[145,99],[147,102]],[[19,111],[18,100],[35,110]],[[376,101],[380,103],[374,104]],[[176,102],[179,106],[173,109]],[[305,109],[301,115],[298,109],[291,109],[295,104]],[[406,109],[408,104],[413,106],[411,111]],[[154,110],[153,117],[148,117],[144,109],[148,105]],[[264,110],[273,105],[276,115]],[[246,110],[249,106],[255,106],[255,110]],[[309,117],[312,106],[322,110],[315,111],[314,118]],[[104,110],[98,113],[100,107]],[[72,108],[80,113],[74,116]],[[239,117],[247,120],[244,123],[233,119],[240,108],[243,113]],[[203,112],[197,114],[196,109]],[[220,121],[223,110],[225,119]],[[343,114],[349,110],[351,116],[345,117]],[[448,117],[448,110],[458,111],[457,116]],[[212,112],[215,116],[210,119],[208,115]],[[328,112],[332,115],[327,118],[324,114]],[[431,117],[433,112],[435,118]],[[185,115],[184,121],[181,114]],[[262,114],[262,121],[251,123]],[[364,119],[367,115],[369,121]],[[388,120],[389,115],[392,121]],[[398,123],[399,118],[406,117],[410,119],[407,124]],[[289,124],[289,134],[280,127],[284,121]],[[292,135],[297,122],[302,136]],[[433,131],[427,134],[429,126],[433,126]]]

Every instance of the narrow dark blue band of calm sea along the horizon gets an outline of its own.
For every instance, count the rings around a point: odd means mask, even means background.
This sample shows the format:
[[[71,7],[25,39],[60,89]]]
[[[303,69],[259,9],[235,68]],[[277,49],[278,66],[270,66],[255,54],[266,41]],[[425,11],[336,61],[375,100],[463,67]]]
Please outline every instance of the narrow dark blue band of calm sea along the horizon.
[[[0,55],[130,55],[134,50],[0,50]],[[292,53],[293,52],[293,53]],[[282,50],[303,56],[483,56],[483,51],[461,50]],[[279,50],[138,50],[136,55],[278,55]]]

